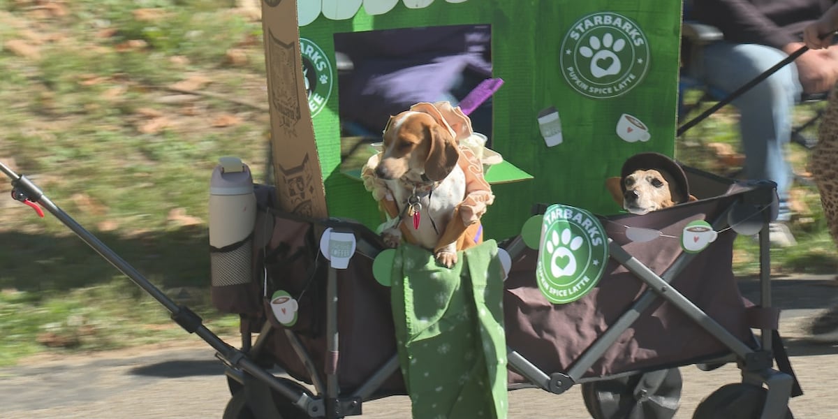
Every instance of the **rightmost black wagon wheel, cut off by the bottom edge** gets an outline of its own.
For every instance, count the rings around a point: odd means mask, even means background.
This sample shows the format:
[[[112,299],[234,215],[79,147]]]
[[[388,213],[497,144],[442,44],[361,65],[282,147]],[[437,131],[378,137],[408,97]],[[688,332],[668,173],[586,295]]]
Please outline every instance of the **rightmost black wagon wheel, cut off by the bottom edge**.
[[[733,383],[722,385],[702,400],[693,419],[758,419],[763,413],[768,390],[758,385]],[[786,419],[793,419],[786,406]]]

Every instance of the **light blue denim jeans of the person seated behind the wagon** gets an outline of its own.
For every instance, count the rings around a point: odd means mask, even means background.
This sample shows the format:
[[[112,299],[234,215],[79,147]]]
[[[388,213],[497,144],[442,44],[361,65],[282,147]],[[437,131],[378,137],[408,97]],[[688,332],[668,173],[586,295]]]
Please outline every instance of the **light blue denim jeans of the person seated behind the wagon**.
[[[786,56],[766,45],[719,42],[704,50],[701,75],[712,89],[727,95]],[[749,179],[768,179],[777,184],[779,221],[790,217],[788,198],[793,174],[785,145],[791,137],[794,105],[802,92],[797,67],[790,63],[732,102],[740,114],[743,174]]]

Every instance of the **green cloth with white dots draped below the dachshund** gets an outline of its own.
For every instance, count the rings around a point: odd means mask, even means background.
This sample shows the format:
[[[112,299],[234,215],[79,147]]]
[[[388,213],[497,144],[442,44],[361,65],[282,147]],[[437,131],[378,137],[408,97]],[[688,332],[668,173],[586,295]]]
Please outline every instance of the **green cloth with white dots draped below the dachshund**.
[[[402,245],[393,262],[396,341],[414,419],[505,418],[506,338],[498,246],[450,269]]]

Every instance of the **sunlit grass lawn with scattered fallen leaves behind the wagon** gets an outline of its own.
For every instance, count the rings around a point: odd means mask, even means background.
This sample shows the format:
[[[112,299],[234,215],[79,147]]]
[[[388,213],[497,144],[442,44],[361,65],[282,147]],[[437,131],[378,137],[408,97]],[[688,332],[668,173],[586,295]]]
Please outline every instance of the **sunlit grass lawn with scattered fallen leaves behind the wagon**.
[[[261,23],[233,5],[0,0],[0,162],[218,333],[235,332],[237,318],[208,301],[209,175],[218,158],[236,155],[262,181],[269,127]],[[716,144],[735,151],[735,122],[718,112],[679,139],[676,157],[727,173]],[[772,251],[774,269],[835,272],[806,183],[808,151],[789,152],[801,179],[792,225],[800,246]],[[0,181],[0,365],[183,339],[158,303],[54,217],[8,199],[9,189]],[[756,250],[737,239],[737,274],[757,272]]]

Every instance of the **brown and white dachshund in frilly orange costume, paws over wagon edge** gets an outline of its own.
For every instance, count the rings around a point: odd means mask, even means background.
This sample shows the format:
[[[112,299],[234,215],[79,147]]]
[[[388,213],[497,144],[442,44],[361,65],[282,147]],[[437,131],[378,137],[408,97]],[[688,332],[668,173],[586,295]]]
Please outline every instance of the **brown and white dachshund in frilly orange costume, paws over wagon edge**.
[[[419,103],[391,117],[382,152],[367,163],[390,195],[380,199],[391,204],[381,232],[387,246],[404,236],[451,267],[458,250],[482,241],[479,217],[494,195],[478,158],[458,144],[469,134],[468,116],[447,102]]]

